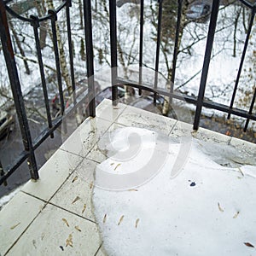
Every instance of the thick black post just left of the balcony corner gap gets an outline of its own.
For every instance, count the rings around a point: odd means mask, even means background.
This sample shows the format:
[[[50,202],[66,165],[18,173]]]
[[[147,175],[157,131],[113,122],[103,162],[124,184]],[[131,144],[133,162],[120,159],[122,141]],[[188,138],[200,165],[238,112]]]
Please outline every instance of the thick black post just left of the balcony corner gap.
[[[91,3],[84,0],[84,32],[86,44],[86,67],[89,91],[89,112],[91,117],[96,116],[95,87],[94,87],[94,67],[93,67],[93,44],[91,26]]]

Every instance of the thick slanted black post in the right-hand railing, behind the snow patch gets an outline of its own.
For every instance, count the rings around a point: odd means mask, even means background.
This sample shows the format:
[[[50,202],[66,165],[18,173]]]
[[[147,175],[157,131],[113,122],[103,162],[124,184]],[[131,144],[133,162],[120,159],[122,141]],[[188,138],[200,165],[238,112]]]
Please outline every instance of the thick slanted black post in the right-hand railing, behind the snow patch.
[[[200,88],[199,88],[197,103],[196,103],[194,130],[198,130],[199,122],[201,118],[201,109],[203,106],[205,90],[207,85],[207,75],[209,70],[209,64],[211,61],[212,44],[213,44],[216,23],[218,18],[218,7],[219,7],[219,0],[213,0],[212,15],[211,15],[211,20],[210,20],[210,25],[209,25],[208,35],[207,35],[207,47],[206,47],[204,64],[203,64],[202,73],[201,73]]]

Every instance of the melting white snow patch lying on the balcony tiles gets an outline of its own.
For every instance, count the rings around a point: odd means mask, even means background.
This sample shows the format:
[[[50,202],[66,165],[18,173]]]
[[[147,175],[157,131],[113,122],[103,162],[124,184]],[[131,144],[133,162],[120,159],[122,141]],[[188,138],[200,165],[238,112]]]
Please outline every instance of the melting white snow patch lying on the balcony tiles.
[[[129,138],[131,133],[141,137],[138,143]],[[256,247],[256,166],[220,166],[193,140],[187,159],[181,159],[183,168],[172,178],[178,143],[169,137],[159,139],[153,131],[129,127],[110,136],[109,157],[96,168],[93,195],[96,221],[108,255],[256,254],[254,247],[245,244]],[[162,151],[165,162],[160,163],[160,158],[152,155],[157,143],[163,141],[168,148]],[[124,148],[116,147],[120,142]],[[159,169],[150,168],[149,162]],[[132,185],[133,189],[123,186],[119,191],[106,186],[101,189],[102,183],[97,183],[101,172],[121,177],[139,173],[143,166],[154,175],[140,185],[135,180],[136,189]]]

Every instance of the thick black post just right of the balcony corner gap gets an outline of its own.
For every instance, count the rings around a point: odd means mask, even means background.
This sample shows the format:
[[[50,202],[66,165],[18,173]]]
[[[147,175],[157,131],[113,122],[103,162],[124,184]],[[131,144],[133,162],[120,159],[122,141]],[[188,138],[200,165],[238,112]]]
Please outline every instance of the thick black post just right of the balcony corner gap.
[[[111,49],[111,81],[112,101],[117,105],[118,87],[117,78],[117,28],[116,28],[116,0],[109,0],[109,26],[110,26],[110,49]]]

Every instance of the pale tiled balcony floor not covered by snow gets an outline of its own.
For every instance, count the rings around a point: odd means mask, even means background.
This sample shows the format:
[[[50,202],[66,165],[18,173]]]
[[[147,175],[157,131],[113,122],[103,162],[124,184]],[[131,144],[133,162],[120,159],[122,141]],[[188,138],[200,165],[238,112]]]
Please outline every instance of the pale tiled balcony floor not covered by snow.
[[[174,141],[191,137],[205,154],[214,156],[218,164],[236,168],[237,176],[239,166],[255,167],[256,145],[253,143],[205,129],[195,132],[192,125],[181,121],[123,104],[112,107],[110,101],[104,100],[96,108],[96,118],[86,119],[44,164],[38,182],[26,183],[3,207],[0,255],[104,255],[92,203],[94,171],[107,158],[99,149],[107,131],[129,126],[160,132]],[[220,150],[223,157],[219,157]],[[223,210],[222,206],[218,208],[220,212]],[[255,209],[250,210],[254,212]],[[255,223],[256,220],[253,225]],[[100,227],[102,229],[102,224]],[[251,242],[256,245],[256,236]],[[248,253],[255,253],[253,247],[242,246],[251,249]],[[126,249],[128,255],[133,255],[129,254],[129,247]]]

